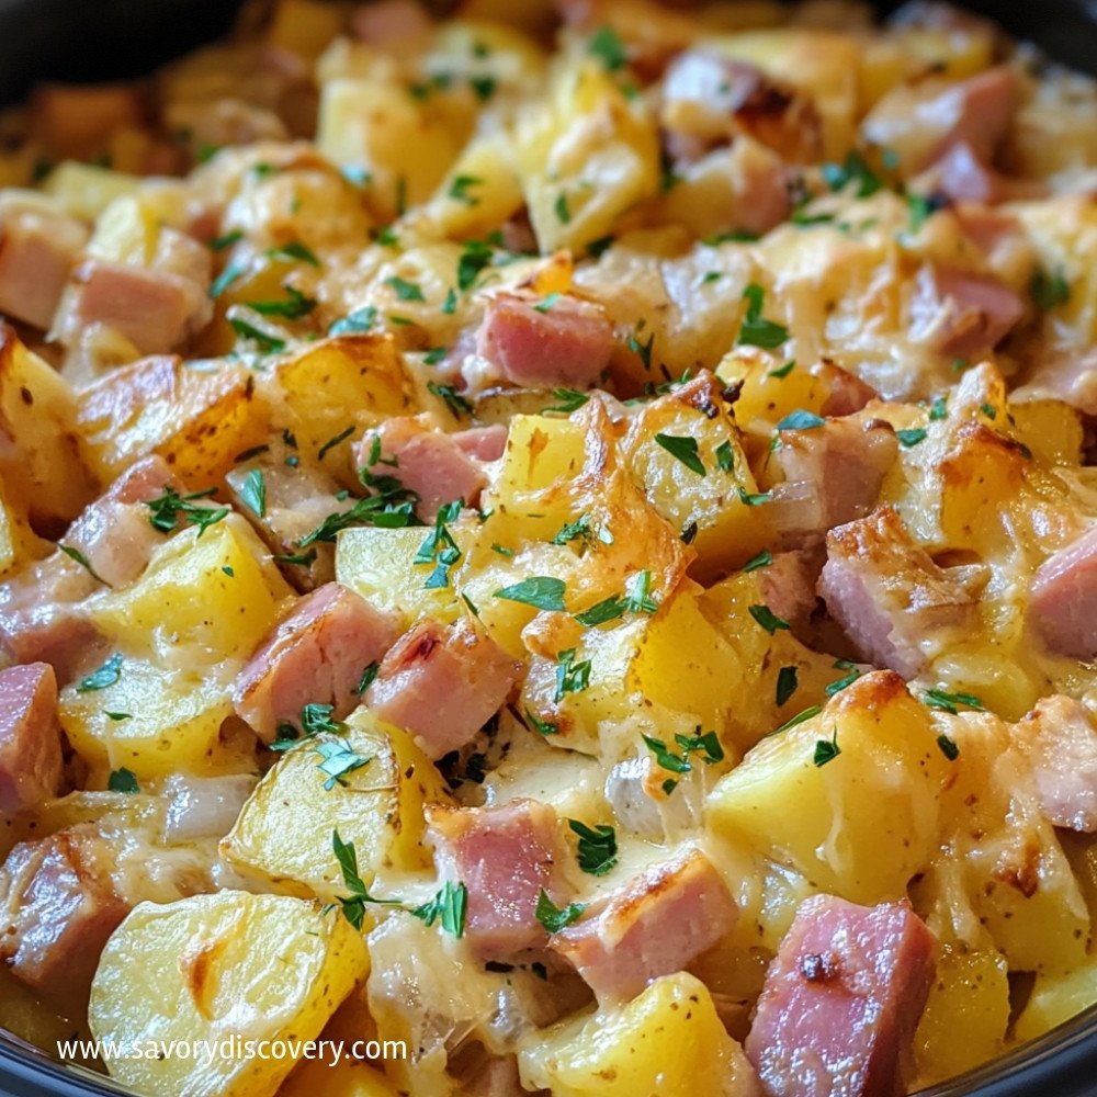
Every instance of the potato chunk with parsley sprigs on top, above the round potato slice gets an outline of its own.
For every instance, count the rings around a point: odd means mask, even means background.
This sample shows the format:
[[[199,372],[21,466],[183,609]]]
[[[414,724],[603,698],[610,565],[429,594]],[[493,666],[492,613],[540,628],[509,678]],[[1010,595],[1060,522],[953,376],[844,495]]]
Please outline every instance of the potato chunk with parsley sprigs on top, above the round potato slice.
[[[333,830],[353,842],[366,886],[381,870],[430,864],[422,844],[423,804],[450,799],[438,770],[406,732],[374,720],[369,710],[359,709],[347,723],[346,736],[293,747],[260,781],[222,841],[234,864],[327,902],[347,894],[331,852]],[[326,788],[320,746],[369,760]]]

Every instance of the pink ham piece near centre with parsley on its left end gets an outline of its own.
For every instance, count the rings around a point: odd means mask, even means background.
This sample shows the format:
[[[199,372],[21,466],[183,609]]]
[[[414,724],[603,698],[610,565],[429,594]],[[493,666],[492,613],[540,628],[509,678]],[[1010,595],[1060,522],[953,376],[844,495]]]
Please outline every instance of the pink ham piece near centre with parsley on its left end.
[[[381,443],[381,462],[389,466],[370,466],[375,446]],[[399,416],[386,419],[376,430],[366,431],[358,445],[358,463],[375,475],[395,476],[420,499],[416,512],[432,521],[439,507],[461,499],[466,507],[479,502],[487,486],[483,462],[501,456],[507,442],[502,426],[480,427],[457,434],[445,434],[431,426],[429,416]],[[479,454],[491,454],[480,457]]]

